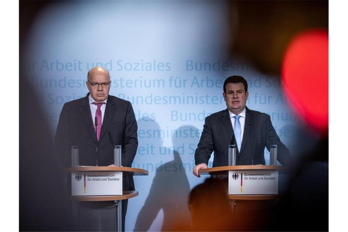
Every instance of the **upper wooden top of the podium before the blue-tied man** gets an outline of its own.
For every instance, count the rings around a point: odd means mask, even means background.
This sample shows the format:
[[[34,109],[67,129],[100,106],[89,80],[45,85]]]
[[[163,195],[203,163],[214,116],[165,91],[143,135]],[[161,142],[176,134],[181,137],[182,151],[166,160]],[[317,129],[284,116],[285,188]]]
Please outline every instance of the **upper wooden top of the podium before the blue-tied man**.
[[[200,175],[223,175],[228,174],[228,171],[239,170],[283,170],[283,166],[270,166],[270,165],[236,165],[236,166],[222,166],[215,168],[206,168],[198,170]]]

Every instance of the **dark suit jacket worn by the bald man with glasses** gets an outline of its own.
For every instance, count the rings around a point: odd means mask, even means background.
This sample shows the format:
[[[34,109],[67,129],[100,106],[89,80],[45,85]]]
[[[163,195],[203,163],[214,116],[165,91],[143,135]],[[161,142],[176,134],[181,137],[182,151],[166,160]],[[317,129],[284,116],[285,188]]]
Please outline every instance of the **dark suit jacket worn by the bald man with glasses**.
[[[109,131],[113,141],[108,135]],[[72,145],[79,146],[79,164],[84,166],[96,166],[96,147],[100,159],[98,166],[113,164],[113,145],[121,145],[122,166],[130,167],[138,147],[137,123],[132,105],[109,95],[97,145],[88,95],[67,102],[59,117],[55,142],[63,167],[71,167]],[[134,190],[133,177],[124,175],[123,179],[123,189]]]

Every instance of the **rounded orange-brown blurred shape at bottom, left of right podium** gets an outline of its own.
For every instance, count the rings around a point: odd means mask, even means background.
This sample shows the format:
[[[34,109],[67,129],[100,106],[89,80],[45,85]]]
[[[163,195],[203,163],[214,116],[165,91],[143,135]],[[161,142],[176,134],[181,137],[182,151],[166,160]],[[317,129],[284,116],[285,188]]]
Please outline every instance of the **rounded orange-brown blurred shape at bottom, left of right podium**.
[[[189,209],[192,231],[231,231],[232,210],[226,184],[208,178],[191,190]]]

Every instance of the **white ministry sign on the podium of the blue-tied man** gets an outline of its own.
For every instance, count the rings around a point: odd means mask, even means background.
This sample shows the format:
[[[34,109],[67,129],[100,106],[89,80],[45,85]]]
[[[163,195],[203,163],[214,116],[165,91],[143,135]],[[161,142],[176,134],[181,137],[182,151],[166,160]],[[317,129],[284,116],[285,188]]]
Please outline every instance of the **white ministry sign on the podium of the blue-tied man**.
[[[228,194],[278,194],[278,171],[229,171]]]

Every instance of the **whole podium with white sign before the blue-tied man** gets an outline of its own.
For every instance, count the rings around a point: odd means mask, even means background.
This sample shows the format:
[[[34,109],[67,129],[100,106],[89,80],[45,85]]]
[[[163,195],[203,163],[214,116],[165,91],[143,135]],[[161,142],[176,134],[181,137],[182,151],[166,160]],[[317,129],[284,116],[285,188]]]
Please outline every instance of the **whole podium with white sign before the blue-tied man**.
[[[229,194],[226,196],[230,201],[232,214],[229,225],[232,226],[232,229],[229,229],[230,231],[269,231],[274,228],[273,216],[278,209],[277,175],[279,172],[282,173],[284,169],[283,166],[240,165],[201,169],[198,173],[199,175],[212,175],[212,177],[216,175],[217,178],[223,180],[224,187],[227,186],[227,182],[238,184],[232,184],[232,187],[235,188],[232,191],[234,194],[231,194],[230,185]],[[239,174],[239,177],[236,174]],[[228,176],[229,178],[227,178]],[[262,179],[262,176],[267,178]],[[276,178],[273,179],[273,177]],[[243,183],[241,183],[242,180]],[[238,189],[242,185],[243,191]],[[266,188],[262,186],[266,186]],[[269,187],[271,187],[271,191],[268,190]],[[252,191],[255,193],[252,194]],[[262,192],[264,194],[261,194]]]

